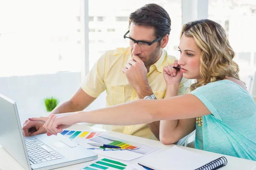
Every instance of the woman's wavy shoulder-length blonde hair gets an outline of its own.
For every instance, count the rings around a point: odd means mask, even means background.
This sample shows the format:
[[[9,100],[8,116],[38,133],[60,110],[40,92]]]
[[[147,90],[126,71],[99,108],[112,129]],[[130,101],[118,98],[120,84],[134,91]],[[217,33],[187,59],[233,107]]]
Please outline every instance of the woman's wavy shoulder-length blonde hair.
[[[235,52],[224,28],[212,20],[196,20],[183,25],[180,37],[193,37],[202,50],[200,58],[201,82],[190,86],[190,91],[225,77],[239,79],[239,66],[233,61]],[[240,80],[240,79],[239,79]]]

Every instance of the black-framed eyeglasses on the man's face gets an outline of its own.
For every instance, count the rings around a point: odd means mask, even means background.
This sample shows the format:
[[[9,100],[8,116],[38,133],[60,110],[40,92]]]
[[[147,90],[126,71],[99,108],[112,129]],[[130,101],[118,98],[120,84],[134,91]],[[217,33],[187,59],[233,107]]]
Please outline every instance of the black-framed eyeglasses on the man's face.
[[[136,43],[140,46],[140,48],[142,50],[148,50],[150,45],[154,44],[155,42],[161,40],[160,37],[156,38],[154,41],[152,42],[145,42],[145,41],[137,41],[137,40],[134,40],[133,38],[131,37],[126,37],[126,35],[129,33],[130,31],[127,31],[124,35],[124,39],[125,41],[128,43],[128,45],[130,45],[131,47],[133,47]]]

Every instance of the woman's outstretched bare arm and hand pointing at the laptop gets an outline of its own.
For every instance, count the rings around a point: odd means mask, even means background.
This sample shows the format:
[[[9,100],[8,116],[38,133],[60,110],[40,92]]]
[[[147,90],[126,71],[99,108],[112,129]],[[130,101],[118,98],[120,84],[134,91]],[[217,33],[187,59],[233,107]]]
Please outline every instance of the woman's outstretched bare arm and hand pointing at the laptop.
[[[138,125],[159,120],[189,119],[210,114],[206,106],[194,95],[186,94],[169,99],[137,100],[93,111],[52,114],[50,117],[29,118],[44,121],[51,134],[62,132],[66,125],[87,122],[104,125]]]

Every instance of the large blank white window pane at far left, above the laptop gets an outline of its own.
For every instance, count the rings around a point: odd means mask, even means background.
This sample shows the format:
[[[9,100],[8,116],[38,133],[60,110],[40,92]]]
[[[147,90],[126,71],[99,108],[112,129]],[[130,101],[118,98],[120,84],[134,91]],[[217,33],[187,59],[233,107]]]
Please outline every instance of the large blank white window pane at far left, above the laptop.
[[[5,62],[0,64],[0,76],[81,71],[80,44],[76,43],[80,40],[79,0],[27,0],[17,7],[11,2],[1,6],[0,56]]]

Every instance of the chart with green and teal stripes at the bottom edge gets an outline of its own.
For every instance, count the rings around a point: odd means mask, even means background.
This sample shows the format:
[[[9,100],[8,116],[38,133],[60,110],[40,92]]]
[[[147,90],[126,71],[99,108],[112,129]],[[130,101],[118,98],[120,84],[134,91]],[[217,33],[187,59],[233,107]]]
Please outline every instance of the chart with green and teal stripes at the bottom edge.
[[[137,170],[133,167],[128,166],[127,164],[123,164],[119,161],[114,161],[111,159],[101,159],[99,161],[90,164],[87,167],[84,167],[81,170]]]

